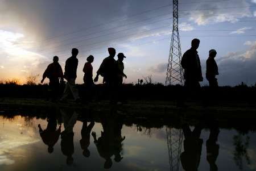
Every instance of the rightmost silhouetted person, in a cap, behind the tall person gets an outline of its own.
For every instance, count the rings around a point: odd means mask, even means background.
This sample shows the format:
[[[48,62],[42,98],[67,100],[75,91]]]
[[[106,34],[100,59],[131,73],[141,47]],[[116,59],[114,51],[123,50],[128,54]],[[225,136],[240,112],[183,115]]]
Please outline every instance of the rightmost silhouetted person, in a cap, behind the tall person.
[[[218,81],[217,78],[215,78],[218,75],[218,66],[216,64],[216,61],[214,60],[216,55],[216,50],[212,49],[209,51],[209,57],[207,59],[206,78],[209,81],[210,87],[218,87]]]

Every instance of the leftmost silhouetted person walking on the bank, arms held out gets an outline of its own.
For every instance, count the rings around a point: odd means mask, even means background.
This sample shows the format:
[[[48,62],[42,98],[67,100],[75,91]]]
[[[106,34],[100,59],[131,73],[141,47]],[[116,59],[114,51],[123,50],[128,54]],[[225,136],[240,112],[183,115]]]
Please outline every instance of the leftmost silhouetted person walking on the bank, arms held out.
[[[47,99],[49,99],[49,97],[51,96],[53,101],[55,101],[59,96],[59,79],[61,80],[61,82],[63,82],[63,71],[58,61],[59,57],[54,56],[53,62],[47,66],[41,80],[41,83],[43,83],[46,77],[49,78]]]

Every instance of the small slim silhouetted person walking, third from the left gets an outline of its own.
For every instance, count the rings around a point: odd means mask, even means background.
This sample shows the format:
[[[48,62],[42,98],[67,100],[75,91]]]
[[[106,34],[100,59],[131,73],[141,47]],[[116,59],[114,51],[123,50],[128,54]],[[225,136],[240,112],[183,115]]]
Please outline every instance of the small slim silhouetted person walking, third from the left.
[[[92,55],[87,57],[87,62],[84,64],[84,69],[82,71],[84,72],[84,85],[86,87],[86,99],[92,99],[93,95],[93,66],[92,62],[94,60],[94,57]]]

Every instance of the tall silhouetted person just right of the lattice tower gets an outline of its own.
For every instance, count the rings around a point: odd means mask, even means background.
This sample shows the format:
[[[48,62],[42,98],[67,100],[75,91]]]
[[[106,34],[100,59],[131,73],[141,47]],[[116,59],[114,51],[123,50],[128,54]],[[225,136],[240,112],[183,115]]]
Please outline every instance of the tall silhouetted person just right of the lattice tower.
[[[201,64],[197,48],[199,48],[200,40],[193,39],[191,48],[186,51],[181,59],[181,66],[184,69],[185,86],[189,89],[198,89],[199,82],[203,81]]]

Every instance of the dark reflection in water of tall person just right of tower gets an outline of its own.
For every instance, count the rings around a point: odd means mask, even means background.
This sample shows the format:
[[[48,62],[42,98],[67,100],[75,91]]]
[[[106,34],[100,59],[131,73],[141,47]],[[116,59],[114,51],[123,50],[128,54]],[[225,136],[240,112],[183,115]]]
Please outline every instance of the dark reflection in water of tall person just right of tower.
[[[181,153],[180,161],[184,170],[195,171],[200,164],[203,139],[200,139],[201,126],[195,126],[193,131],[185,124],[182,127],[185,140],[183,141],[184,152]]]

